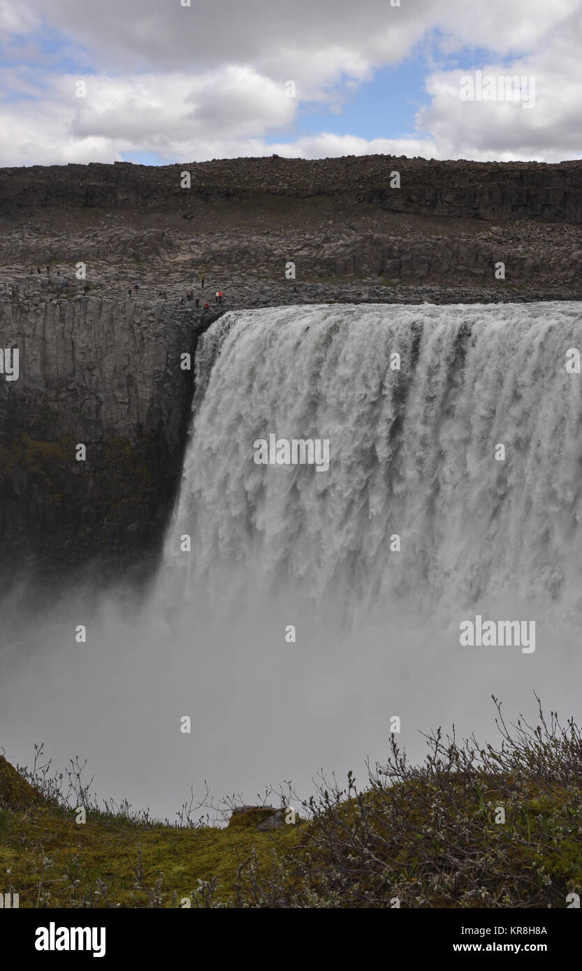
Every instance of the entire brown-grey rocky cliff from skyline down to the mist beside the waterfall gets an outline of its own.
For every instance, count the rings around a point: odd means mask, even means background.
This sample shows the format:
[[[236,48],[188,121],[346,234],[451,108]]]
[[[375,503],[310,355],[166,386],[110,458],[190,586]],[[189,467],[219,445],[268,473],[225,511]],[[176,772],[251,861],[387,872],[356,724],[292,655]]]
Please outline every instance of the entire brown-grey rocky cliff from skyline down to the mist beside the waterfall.
[[[0,368],[5,572],[153,560],[188,432],[181,355],[217,289],[225,309],[580,299],[582,162],[0,170],[0,351],[19,352],[17,381]]]

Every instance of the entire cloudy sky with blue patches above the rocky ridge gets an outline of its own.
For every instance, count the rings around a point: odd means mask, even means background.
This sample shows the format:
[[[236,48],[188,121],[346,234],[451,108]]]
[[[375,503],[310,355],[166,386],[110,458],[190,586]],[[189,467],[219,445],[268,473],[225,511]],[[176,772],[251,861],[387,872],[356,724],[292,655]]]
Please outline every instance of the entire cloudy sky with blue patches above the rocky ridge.
[[[0,165],[577,158],[580,50],[582,0],[0,0]]]

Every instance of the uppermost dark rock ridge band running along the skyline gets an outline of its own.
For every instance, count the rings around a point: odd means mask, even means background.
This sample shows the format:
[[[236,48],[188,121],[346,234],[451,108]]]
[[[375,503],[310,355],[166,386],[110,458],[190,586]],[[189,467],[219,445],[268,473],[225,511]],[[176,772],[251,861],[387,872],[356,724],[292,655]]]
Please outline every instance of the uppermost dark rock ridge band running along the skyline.
[[[191,188],[181,188],[181,172]],[[391,188],[391,172],[400,188]],[[480,219],[532,218],[582,222],[582,162],[427,161],[389,155],[343,158],[234,158],[152,168],[115,165],[0,170],[0,212],[67,205],[120,210],[188,211],[199,199],[248,200],[258,193],[288,198],[343,196],[396,213]]]

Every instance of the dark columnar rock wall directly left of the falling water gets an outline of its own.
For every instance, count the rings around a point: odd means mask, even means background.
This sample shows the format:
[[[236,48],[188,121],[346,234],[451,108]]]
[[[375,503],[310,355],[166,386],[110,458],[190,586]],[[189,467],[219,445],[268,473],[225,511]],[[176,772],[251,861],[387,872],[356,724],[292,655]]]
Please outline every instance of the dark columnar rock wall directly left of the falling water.
[[[0,332],[20,371],[0,376],[4,563],[154,553],[180,481],[198,321],[130,301],[21,296],[0,304]]]

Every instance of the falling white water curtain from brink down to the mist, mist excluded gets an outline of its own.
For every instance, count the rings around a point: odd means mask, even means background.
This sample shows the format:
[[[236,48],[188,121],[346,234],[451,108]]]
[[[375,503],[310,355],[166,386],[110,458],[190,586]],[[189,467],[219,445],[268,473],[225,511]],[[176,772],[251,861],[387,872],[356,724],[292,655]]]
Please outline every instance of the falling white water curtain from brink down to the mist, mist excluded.
[[[166,586],[218,600],[308,590],[351,616],[394,599],[467,610],[508,590],[579,605],[570,348],[582,349],[579,304],[226,315],[199,345]],[[271,433],[328,439],[328,471],[257,465],[254,442]]]

